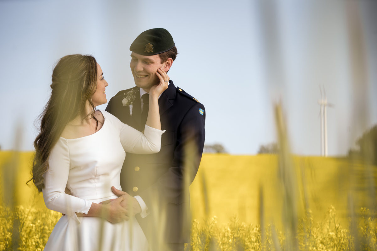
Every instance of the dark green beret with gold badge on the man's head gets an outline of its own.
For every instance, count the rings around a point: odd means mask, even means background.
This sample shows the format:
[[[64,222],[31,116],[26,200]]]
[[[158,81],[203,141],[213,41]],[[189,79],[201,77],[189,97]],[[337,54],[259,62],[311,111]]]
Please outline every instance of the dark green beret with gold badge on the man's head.
[[[132,42],[130,50],[145,56],[156,55],[174,47],[172,35],[162,28],[155,28],[141,32]]]

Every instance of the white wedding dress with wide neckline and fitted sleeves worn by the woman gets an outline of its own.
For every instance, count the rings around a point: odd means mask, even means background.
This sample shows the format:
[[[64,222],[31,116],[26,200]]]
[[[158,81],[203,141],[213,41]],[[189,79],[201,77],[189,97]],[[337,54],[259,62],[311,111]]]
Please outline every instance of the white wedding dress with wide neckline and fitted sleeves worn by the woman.
[[[46,206],[61,213],[44,250],[62,251],[143,251],[148,242],[135,217],[112,224],[86,214],[92,202],[117,198],[111,186],[121,190],[120,171],[125,151],[138,154],[158,152],[160,131],[145,126],[144,134],[123,124],[106,111],[102,128],[92,135],[60,137],[51,151],[44,174],[43,198]],[[64,192],[66,187],[71,195]]]

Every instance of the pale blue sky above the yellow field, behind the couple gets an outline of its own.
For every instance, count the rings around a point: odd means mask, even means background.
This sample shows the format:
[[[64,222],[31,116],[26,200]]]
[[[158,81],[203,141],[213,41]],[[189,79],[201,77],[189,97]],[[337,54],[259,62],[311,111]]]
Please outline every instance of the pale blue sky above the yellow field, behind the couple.
[[[135,37],[164,27],[179,52],[170,79],[206,108],[206,144],[256,154],[276,141],[273,104],[281,102],[292,151],[319,155],[321,86],[335,105],[328,152],[344,155],[377,123],[376,11],[374,1],[2,0],[0,146],[33,149],[59,58],[95,56],[111,97],[134,86]]]

